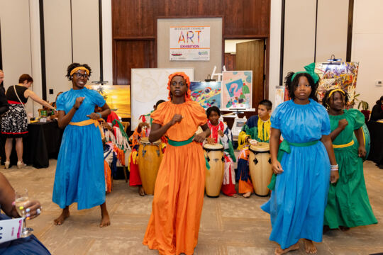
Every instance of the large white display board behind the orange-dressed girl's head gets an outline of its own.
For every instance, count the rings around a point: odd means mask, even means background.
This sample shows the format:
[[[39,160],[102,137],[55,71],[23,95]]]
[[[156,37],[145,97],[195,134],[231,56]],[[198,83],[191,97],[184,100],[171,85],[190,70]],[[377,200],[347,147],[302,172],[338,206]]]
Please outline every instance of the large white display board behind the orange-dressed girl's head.
[[[194,68],[133,68],[131,74],[131,130],[138,126],[138,118],[153,110],[159,100],[167,101],[167,80],[174,72],[184,72],[194,80]]]

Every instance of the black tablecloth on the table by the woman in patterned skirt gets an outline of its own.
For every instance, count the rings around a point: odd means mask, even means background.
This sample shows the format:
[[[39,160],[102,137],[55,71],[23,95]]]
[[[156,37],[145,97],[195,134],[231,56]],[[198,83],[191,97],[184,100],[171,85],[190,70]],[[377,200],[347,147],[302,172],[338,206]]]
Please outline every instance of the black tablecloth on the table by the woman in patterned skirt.
[[[28,137],[23,139],[23,161],[31,164],[35,168],[45,168],[49,166],[49,159],[57,159],[60,150],[63,130],[58,128],[57,121],[48,123],[28,124]],[[1,164],[5,162],[6,137],[1,137]],[[11,154],[11,165],[17,163],[15,141]]]

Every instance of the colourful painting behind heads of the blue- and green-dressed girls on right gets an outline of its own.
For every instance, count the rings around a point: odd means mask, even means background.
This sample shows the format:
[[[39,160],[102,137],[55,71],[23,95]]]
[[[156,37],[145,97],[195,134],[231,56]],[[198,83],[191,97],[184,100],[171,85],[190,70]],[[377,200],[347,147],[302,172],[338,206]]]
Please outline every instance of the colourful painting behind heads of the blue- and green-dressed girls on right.
[[[329,89],[343,89],[350,98],[349,106],[353,106],[358,69],[359,62],[316,63],[315,72],[321,78],[318,85],[318,100],[321,102]]]

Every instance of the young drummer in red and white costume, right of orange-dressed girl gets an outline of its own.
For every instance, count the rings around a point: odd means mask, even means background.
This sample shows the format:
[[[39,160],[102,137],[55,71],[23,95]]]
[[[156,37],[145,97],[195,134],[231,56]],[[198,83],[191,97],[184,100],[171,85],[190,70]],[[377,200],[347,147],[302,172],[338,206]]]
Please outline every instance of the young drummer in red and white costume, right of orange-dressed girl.
[[[234,171],[234,162],[235,154],[233,148],[233,135],[231,135],[231,130],[228,128],[226,123],[223,123],[219,120],[221,116],[221,111],[216,106],[211,106],[207,109],[206,115],[208,117],[208,125],[211,132],[211,135],[206,138],[209,144],[221,143],[223,145],[225,157],[225,171],[223,174],[223,183],[221,191],[226,196],[237,196],[235,191],[235,171]]]

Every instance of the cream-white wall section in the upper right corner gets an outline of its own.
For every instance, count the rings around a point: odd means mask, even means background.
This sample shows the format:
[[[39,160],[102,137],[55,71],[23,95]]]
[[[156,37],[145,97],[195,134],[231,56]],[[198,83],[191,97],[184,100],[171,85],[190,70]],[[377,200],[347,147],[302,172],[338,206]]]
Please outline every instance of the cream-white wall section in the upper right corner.
[[[359,62],[356,93],[359,99],[370,104],[383,96],[383,87],[375,86],[383,81],[383,1],[354,1],[353,50],[351,60]]]

